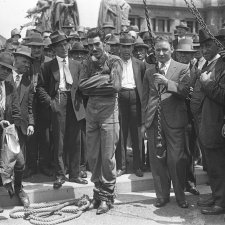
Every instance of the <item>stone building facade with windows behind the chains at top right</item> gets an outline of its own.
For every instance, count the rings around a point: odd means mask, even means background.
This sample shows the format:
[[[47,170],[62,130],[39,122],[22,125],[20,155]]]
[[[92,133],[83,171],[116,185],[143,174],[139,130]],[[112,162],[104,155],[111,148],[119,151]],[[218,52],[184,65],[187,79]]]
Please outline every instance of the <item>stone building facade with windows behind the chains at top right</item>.
[[[187,0],[189,3],[190,0]],[[138,25],[140,30],[146,29],[146,18],[143,0],[127,0],[131,6],[129,19],[131,25]],[[173,36],[175,27],[181,20],[187,21],[189,35],[198,33],[200,28],[195,17],[190,13],[184,0],[146,0],[152,30],[156,34]],[[225,0],[194,0],[206,24],[221,28],[225,21]]]

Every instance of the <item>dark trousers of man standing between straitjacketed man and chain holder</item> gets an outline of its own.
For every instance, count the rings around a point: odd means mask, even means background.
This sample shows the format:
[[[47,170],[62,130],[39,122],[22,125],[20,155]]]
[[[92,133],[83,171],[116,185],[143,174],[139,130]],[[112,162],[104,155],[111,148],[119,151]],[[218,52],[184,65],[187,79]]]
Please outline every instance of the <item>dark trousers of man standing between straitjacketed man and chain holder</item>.
[[[141,168],[141,153],[140,153],[140,133],[138,127],[141,123],[141,104],[136,89],[122,90],[119,93],[119,111],[121,119],[121,130],[123,135],[124,148],[121,148],[121,165],[126,165],[126,149],[128,130],[130,130],[132,149],[133,149],[133,169]]]

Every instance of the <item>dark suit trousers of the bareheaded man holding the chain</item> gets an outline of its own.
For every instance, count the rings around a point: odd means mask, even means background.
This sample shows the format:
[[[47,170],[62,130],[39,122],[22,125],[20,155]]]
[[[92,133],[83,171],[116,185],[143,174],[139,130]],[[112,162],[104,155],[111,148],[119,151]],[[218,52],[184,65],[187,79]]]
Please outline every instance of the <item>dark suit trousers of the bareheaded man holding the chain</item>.
[[[184,187],[186,176],[185,128],[170,128],[161,114],[162,144],[166,148],[166,159],[157,157],[157,117],[147,129],[149,159],[157,198],[170,196],[171,180],[177,202],[185,200]]]

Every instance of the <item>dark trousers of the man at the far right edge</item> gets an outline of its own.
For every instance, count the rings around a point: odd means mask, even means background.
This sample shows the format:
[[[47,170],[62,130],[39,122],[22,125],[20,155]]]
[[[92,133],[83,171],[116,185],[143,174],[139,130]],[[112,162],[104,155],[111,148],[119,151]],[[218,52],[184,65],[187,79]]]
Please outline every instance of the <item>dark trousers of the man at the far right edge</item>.
[[[204,148],[215,205],[225,208],[225,148]]]

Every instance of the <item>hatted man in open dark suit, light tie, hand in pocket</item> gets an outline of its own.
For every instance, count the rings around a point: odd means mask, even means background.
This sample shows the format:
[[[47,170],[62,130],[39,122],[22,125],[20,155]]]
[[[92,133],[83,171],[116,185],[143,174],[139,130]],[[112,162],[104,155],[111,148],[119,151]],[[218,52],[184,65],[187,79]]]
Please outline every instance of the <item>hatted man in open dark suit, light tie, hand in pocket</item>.
[[[69,181],[87,184],[80,173],[80,124],[85,118],[82,97],[78,92],[81,65],[68,59],[68,38],[62,31],[50,35],[56,58],[42,67],[37,94],[40,101],[51,109],[56,181],[58,189],[66,181],[64,157],[69,155]]]

